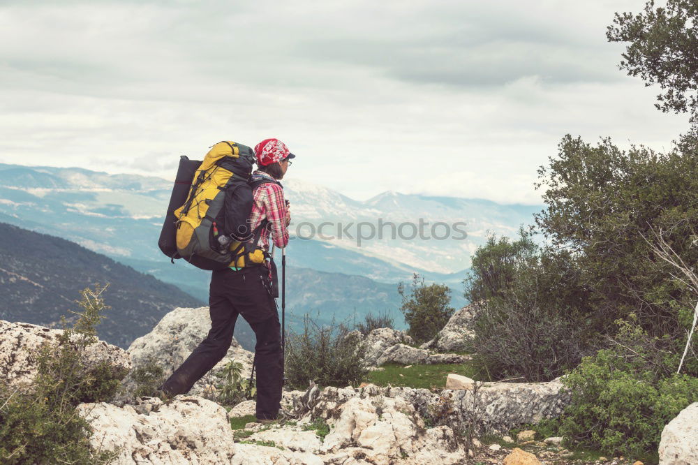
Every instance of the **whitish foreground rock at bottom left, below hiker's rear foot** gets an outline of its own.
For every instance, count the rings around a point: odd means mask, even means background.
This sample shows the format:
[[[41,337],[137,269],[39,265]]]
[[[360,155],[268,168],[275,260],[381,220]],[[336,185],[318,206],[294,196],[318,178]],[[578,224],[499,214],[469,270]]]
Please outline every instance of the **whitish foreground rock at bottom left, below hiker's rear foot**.
[[[80,404],[77,411],[94,429],[93,447],[117,453],[115,464],[229,464],[236,452],[225,408],[201,397]]]

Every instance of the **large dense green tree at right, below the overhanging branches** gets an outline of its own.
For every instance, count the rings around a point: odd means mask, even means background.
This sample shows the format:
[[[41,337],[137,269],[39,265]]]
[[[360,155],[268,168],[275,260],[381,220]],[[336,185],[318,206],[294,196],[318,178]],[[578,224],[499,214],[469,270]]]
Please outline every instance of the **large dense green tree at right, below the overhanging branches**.
[[[660,228],[684,260],[698,263],[691,239],[698,231],[696,152],[692,134],[667,154],[566,135],[558,157],[538,170],[547,209],[535,221],[576,259],[600,329],[634,312],[651,335],[683,332],[677,307],[686,307],[690,293],[652,257],[644,237]]]

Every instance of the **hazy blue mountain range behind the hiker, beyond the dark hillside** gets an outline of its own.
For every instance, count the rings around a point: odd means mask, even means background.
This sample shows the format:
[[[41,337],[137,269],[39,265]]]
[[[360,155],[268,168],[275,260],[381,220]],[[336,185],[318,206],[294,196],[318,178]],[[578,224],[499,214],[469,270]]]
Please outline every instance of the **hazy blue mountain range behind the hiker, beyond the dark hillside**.
[[[466,303],[462,281],[477,246],[489,232],[514,235],[542,208],[393,191],[359,201],[296,179],[282,183],[292,214],[286,253],[291,327],[306,313],[327,322],[362,320],[369,312],[388,313],[403,327],[396,285],[415,272],[428,283],[450,286],[452,307],[459,308]],[[209,272],[183,260],[172,265],[157,247],[171,190],[172,182],[158,177],[0,163],[0,221],[75,242],[207,302]],[[410,238],[420,220],[429,238]],[[432,230],[437,222],[442,224]],[[456,234],[456,223],[465,225],[465,234]]]

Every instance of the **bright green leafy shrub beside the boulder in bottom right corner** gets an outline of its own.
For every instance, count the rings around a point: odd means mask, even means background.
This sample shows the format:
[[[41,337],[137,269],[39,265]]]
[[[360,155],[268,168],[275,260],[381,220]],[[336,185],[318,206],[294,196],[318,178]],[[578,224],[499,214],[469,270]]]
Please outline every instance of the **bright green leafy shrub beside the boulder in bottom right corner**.
[[[610,348],[584,357],[563,378],[572,390],[560,434],[573,445],[630,456],[657,450],[664,425],[698,401],[698,378],[676,374],[678,346],[618,321]]]

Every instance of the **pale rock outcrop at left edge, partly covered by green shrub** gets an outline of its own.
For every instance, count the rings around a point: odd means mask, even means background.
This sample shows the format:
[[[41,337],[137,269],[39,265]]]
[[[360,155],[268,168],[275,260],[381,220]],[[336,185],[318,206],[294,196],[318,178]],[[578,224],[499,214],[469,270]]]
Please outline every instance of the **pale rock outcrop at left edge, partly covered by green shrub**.
[[[31,384],[36,376],[39,348],[43,344],[59,344],[61,334],[63,330],[0,320],[0,382],[10,387]],[[109,362],[115,371],[126,373],[131,369],[126,350],[105,341],[87,346],[82,357],[88,371],[100,362]]]

